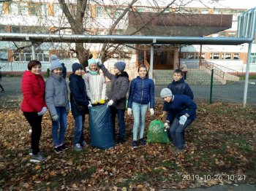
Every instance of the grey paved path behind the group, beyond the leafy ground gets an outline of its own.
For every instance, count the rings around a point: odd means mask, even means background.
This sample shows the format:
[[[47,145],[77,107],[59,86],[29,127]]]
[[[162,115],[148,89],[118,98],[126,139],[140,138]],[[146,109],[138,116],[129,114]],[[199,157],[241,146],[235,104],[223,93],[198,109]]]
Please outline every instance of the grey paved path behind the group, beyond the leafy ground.
[[[249,80],[249,82],[256,82],[256,79]],[[1,85],[4,86],[5,92],[0,93],[1,101],[20,101],[22,93],[20,90],[21,77],[3,77]],[[165,85],[156,85],[155,96],[159,97],[159,93]],[[210,85],[191,85],[195,94],[195,100],[203,99],[209,101]],[[108,85],[109,89],[109,85]],[[256,85],[248,85],[247,103],[256,106]],[[232,103],[242,104],[244,99],[244,81],[234,82],[229,85],[214,85],[213,100],[227,101]]]

